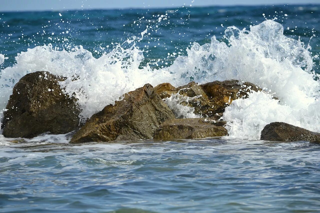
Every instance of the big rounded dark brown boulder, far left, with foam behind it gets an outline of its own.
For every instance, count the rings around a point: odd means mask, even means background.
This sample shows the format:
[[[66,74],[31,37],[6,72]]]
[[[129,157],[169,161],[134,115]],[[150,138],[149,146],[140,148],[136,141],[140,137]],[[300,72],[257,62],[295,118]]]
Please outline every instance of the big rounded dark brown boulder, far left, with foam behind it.
[[[70,99],[60,88],[58,81],[63,80],[48,72],[22,77],[13,87],[4,112],[3,135],[32,138],[44,132],[64,134],[76,130],[80,110],[76,99]]]

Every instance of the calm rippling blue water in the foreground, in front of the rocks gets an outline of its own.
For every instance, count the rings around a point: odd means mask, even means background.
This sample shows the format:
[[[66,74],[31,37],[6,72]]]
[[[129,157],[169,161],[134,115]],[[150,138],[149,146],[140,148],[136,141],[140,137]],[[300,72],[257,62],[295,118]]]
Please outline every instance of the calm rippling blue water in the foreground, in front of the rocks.
[[[318,212],[320,146],[145,141],[1,147],[2,212]]]

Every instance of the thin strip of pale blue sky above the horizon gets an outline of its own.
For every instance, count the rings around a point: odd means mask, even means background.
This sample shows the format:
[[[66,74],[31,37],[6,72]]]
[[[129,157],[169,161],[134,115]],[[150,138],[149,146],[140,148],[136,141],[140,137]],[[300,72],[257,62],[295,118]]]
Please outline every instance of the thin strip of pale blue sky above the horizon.
[[[162,8],[182,5],[320,4],[320,0],[0,0],[0,11]]]

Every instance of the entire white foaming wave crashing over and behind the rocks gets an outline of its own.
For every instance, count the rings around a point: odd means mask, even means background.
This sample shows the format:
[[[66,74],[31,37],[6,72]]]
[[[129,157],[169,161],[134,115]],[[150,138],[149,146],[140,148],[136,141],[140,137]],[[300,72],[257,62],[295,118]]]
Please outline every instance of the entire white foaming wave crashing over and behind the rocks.
[[[83,119],[145,83],[180,86],[190,80],[236,79],[266,88],[280,102],[260,92],[233,101],[223,116],[229,137],[259,139],[263,127],[273,121],[320,132],[320,83],[314,80],[308,47],[283,35],[283,26],[272,20],[251,27],[251,31],[228,27],[225,38],[229,44],[215,36],[211,43],[194,43],[188,56],[179,56],[172,66],[159,70],[139,68],[144,56],[135,41],[140,38],[127,41],[132,47],[117,46],[98,59],[81,46],[70,52],[54,50],[50,44],[28,49],[18,54],[16,65],[1,71],[0,109],[5,108],[12,87],[23,75],[41,70],[68,77],[61,86],[69,95],[76,94]],[[74,78],[77,80],[72,81]]]

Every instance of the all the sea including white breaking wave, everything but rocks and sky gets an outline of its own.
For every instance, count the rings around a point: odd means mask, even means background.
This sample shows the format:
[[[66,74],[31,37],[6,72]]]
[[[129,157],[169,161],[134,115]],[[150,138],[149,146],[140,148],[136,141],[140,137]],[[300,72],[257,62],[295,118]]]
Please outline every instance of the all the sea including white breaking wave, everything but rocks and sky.
[[[61,86],[83,120],[145,83],[237,79],[265,91],[227,107],[224,138],[0,135],[0,211],[320,211],[320,146],[259,140],[275,121],[320,132],[319,21],[320,5],[0,12],[0,121],[14,84],[42,70],[78,76]]]

